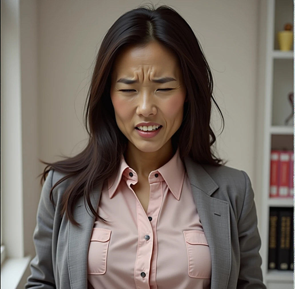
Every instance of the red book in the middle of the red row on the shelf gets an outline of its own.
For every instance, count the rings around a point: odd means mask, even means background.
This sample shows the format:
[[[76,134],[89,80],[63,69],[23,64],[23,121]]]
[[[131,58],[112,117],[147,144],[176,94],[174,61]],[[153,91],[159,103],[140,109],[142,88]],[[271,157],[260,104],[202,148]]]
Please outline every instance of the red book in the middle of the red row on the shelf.
[[[279,177],[278,177],[278,197],[289,196],[289,179],[290,179],[290,151],[280,151],[279,156]]]

